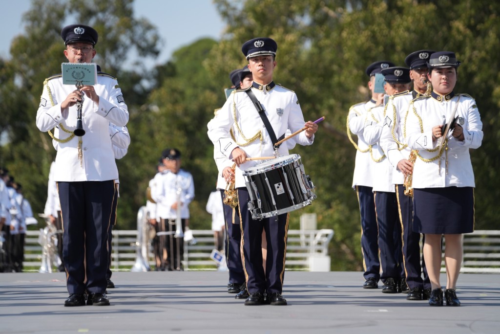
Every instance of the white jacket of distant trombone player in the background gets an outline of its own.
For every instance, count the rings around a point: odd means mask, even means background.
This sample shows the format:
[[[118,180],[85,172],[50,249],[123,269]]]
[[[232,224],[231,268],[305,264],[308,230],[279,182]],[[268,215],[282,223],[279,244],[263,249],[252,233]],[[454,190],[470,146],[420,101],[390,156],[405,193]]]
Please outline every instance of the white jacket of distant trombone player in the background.
[[[189,203],[194,198],[194,181],[191,173],[180,169],[177,174],[168,170],[155,176],[156,185],[151,189],[151,197],[156,202],[156,218],[175,219],[177,211],[172,204],[180,201],[180,218],[189,218]],[[177,195],[177,191],[180,194]]]

